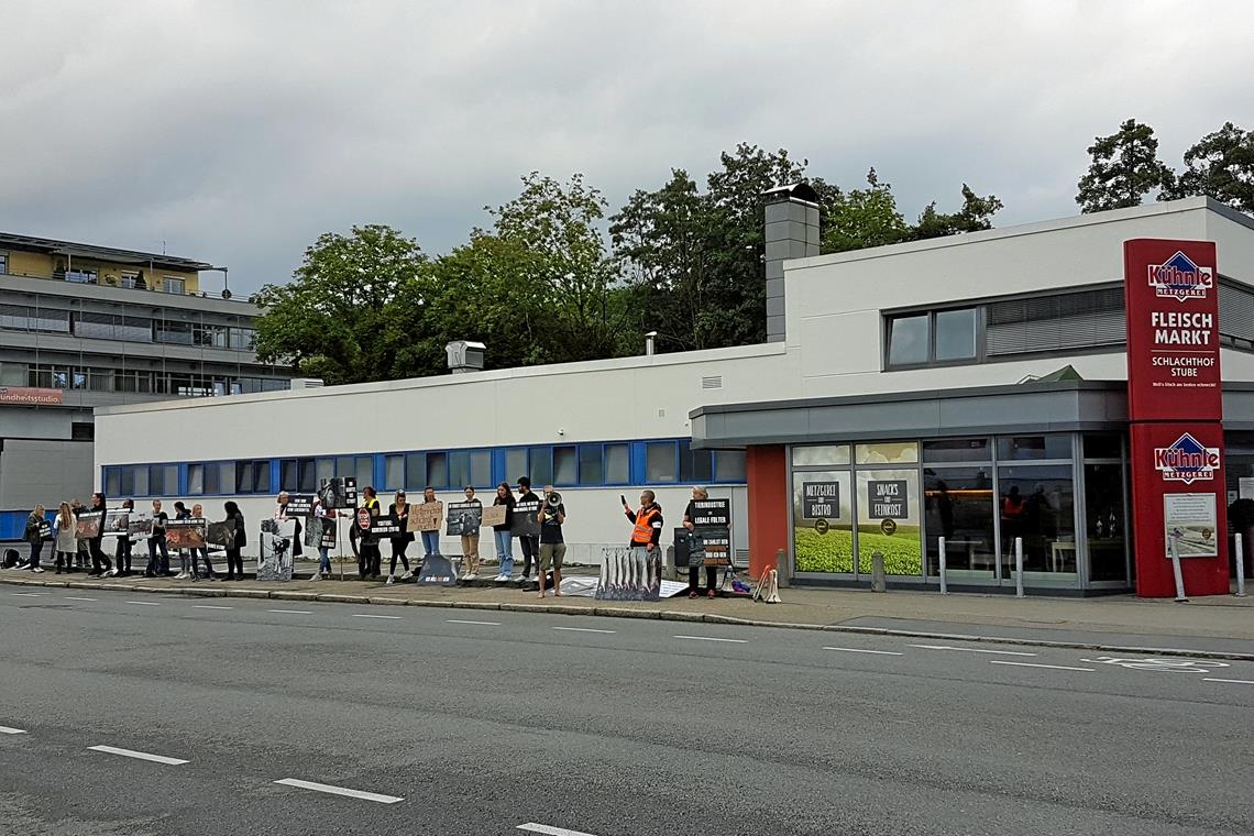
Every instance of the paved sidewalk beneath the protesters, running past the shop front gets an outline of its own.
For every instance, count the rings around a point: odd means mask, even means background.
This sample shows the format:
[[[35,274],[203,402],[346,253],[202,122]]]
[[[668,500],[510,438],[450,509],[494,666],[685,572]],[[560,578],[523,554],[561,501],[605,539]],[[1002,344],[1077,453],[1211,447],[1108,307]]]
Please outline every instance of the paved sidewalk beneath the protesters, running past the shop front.
[[[554,598],[552,593],[542,602],[535,592],[522,590],[517,582],[472,587],[385,585],[382,582],[357,580],[355,572],[346,573],[345,580],[311,582],[307,578],[312,569],[314,564],[298,564],[297,579],[288,583],[87,578],[51,572],[31,575],[15,570],[0,572],[0,583],[203,597],[542,610],[951,639],[996,638],[1011,643],[1198,653],[1254,661],[1254,598],[1233,595],[1196,598],[1188,604],[1178,604],[1170,599],[1137,599],[1131,595],[1017,599],[966,593],[940,595],[928,592],[793,588],[780,590],[780,604],[726,595],[715,600],[680,595],[661,602],[599,602],[572,595]],[[572,567],[566,575],[571,578],[594,572],[594,568]]]

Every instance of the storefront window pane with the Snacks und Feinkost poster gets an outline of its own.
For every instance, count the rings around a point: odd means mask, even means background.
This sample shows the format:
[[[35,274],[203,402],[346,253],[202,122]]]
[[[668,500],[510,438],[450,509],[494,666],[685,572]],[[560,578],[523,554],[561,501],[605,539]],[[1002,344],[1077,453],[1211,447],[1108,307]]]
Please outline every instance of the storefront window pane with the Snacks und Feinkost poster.
[[[870,574],[872,553],[878,549],[884,553],[887,574],[922,575],[919,536],[919,471],[859,470],[858,573]]]

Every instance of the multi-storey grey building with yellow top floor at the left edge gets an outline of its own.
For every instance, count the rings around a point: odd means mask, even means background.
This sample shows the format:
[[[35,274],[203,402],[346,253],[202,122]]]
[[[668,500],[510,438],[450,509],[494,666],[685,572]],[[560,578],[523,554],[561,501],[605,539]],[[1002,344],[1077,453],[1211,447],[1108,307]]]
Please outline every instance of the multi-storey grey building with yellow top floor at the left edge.
[[[36,503],[87,500],[95,407],[287,387],[257,362],[256,307],[201,290],[212,269],[0,233],[0,539]]]

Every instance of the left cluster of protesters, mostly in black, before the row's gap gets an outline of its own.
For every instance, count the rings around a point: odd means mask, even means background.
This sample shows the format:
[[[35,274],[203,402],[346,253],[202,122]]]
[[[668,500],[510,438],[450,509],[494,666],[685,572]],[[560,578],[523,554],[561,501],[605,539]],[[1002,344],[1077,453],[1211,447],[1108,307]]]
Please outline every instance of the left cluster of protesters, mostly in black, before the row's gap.
[[[169,523],[172,519],[203,519],[204,509],[198,503],[188,509],[184,503],[177,501],[174,503],[174,515],[171,516],[163,510],[162,500],[154,499],[152,504],[152,526],[145,531],[133,531],[129,528],[113,533],[105,531],[104,520],[109,510],[133,514],[135,503],[127,499],[117,509],[108,509],[104,494],[92,494],[90,505],[83,505],[76,499],[63,501],[58,506],[51,524],[48,523],[46,509],[43,505],[35,505],[30,516],[26,518],[26,525],[23,531],[23,540],[30,544],[30,555],[24,563],[14,568],[43,573],[44,544],[51,543],[55,551],[54,563],[56,574],[89,569],[88,578],[125,578],[134,574],[132,570],[132,555],[135,544],[147,541],[148,563],[142,572],[145,578],[189,578],[198,580],[198,564],[203,560],[206,577],[209,580],[218,579],[206,546],[178,549],[179,572],[174,574],[171,570],[169,546],[166,538]],[[240,511],[240,506],[231,500],[223,504],[223,510],[226,511],[226,519],[232,520],[234,524],[234,543],[226,546],[227,574],[224,580],[243,580],[241,549],[247,544],[243,514]],[[80,526],[79,518],[88,514],[97,518],[95,524],[89,528]],[[117,540],[113,559],[104,553],[103,544],[105,536]]]

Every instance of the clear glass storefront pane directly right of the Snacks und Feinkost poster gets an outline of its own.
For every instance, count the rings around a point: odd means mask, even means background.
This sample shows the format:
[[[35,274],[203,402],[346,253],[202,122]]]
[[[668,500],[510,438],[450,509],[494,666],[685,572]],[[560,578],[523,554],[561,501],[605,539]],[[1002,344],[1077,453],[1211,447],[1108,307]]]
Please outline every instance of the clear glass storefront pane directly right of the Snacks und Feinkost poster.
[[[924,451],[924,456],[927,452]],[[988,468],[938,468],[923,471],[923,516],[928,543],[928,574],[940,573],[938,538],[946,539],[949,572],[996,579],[997,540],[993,514],[997,498]]]

